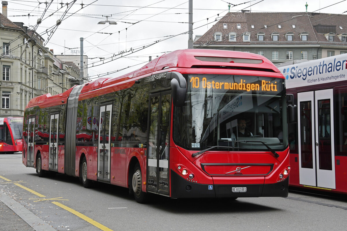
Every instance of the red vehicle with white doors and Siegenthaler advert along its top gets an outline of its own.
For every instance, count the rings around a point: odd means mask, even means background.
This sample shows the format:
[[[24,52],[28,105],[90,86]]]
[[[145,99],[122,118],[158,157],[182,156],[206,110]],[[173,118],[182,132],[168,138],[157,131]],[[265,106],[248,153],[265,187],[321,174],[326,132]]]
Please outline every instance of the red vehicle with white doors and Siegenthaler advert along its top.
[[[289,124],[289,185],[347,194],[347,54],[281,64],[298,106]]]

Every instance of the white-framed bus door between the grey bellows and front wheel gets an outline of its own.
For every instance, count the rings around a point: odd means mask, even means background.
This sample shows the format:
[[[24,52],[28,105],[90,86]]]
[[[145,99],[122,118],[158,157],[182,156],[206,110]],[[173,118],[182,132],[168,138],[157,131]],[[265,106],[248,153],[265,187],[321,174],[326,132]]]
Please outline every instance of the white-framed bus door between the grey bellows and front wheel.
[[[110,143],[111,143],[111,116],[112,104],[100,107],[99,123],[99,152],[98,152],[98,179],[110,181]]]

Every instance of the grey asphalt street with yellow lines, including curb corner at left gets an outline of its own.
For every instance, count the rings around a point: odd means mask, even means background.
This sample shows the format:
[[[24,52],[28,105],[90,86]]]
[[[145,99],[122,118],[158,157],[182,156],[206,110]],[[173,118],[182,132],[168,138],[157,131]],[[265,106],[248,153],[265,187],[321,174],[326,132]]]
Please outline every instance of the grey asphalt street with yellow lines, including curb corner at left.
[[[347,199],[297,192],[236,201],[153,195],[138,204],[125,188],[96,183],[86,189],[63,174],[39,178],[21,153],[0,154],[0,219],[0,230],[23,231],[331,231],[346,230]]]

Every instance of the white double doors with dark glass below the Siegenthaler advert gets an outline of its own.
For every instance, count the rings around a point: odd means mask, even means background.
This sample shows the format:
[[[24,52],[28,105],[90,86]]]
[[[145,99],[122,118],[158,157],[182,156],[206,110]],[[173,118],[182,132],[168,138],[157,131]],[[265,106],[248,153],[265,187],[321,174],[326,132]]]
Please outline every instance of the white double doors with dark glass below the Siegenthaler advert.
[[[333,90],[298,93],[299,183],[335,189]]]

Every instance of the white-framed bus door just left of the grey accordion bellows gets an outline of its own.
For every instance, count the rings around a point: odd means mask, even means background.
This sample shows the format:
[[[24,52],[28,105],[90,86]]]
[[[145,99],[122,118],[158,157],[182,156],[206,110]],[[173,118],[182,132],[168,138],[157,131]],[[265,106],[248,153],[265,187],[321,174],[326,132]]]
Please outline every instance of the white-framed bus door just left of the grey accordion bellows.
[[[58,170],[58,124],[59,114],[51,115],[49,128],[49,170]]]

